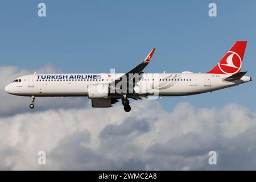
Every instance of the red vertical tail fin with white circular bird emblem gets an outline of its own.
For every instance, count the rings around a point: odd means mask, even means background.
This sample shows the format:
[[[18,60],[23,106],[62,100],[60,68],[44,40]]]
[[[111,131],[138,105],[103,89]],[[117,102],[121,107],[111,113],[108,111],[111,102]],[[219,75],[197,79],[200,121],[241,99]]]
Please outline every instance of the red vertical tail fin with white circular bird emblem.
[[[216,74],[236,74],[242,67],[243,55],[245,53],[247,41],[237,41],[226,53],[220,62],[207,73]]]

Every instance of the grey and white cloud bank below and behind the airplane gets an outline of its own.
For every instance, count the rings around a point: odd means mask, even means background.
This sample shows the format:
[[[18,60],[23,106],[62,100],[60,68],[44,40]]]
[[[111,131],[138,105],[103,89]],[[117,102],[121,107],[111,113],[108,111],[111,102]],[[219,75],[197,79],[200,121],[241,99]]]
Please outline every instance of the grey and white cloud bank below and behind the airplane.
[[[10,77],[28,72],[0,71]],[[0,169],[256,169],[256,113],[245,106],[180,103],[168,111],[158,101],[143,100],[131,102],[132,111],[125,113],[121,104],[97,109],[80,98],[79,107],[72,107],[73,98],[55,98],[59,104],[44,102],[30,111],[29,100],[17,102],[2,89],[0,96]],[[38,164],[42,150],[46,165]],[[217,165],[208,163],[212,150]]]

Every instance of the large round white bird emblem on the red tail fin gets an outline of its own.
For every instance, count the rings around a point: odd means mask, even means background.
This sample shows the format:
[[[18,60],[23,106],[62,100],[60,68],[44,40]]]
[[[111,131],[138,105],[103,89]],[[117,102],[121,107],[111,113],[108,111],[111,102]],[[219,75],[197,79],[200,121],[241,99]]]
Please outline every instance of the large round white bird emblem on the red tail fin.
[[[218,63],[218,67],[223,73],[236,74],[242,67],[242,59],[238,53],[229,51]]]

